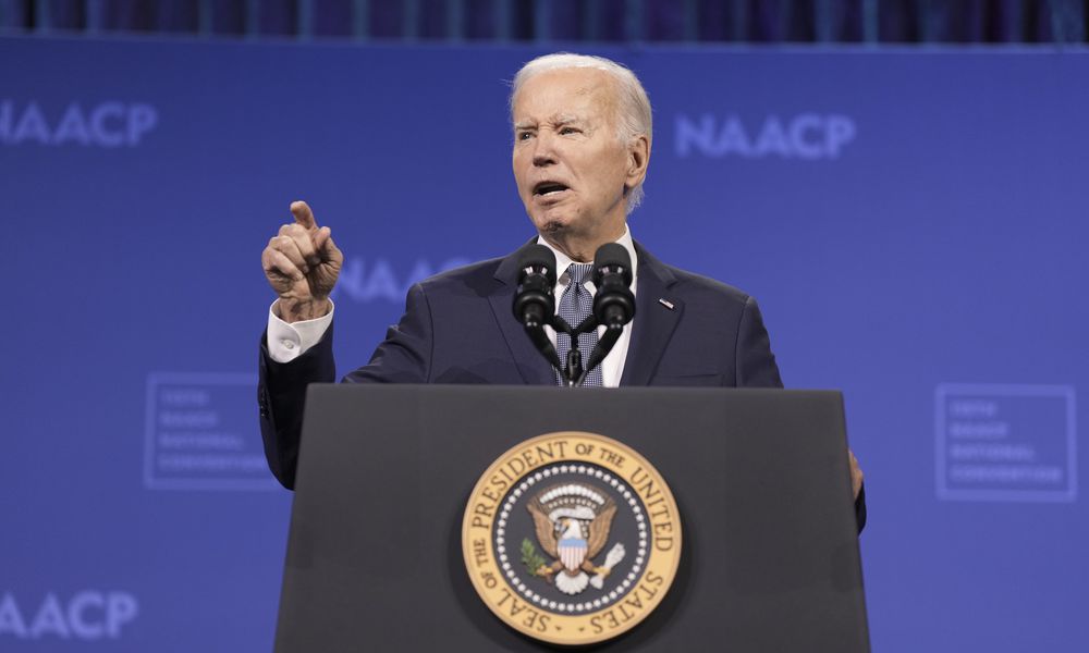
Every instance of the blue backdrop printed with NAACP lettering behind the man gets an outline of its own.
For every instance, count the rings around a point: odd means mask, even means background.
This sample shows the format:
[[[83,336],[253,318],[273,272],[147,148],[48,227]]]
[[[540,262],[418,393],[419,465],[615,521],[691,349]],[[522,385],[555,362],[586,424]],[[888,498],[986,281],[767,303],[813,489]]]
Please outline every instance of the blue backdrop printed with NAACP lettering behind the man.
[[[0,649],[269,650],[260,250],[308,200],[364,362],[409,282],[530,235],[537,53],[0,39]],[[601,53],[656,107],[635,237],[845,393],[874,650],[1084,650],[1089,54]]]

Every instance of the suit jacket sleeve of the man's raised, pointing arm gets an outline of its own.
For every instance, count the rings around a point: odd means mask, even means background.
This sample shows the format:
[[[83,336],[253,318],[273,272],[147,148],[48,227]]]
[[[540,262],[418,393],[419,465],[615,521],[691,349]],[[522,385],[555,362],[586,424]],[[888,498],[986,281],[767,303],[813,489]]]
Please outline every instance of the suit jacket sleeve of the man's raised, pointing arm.
[[[405,313],[390,326],[366,366],[350,372],[351,383],[426,383],[431,359],[431,312],[423,286],[408,292]],[[333,360],[333,328],[330,324],[317,345],[290,362],[277,362],[261,336],[257,403],[261,440],[269,469],[289,490],[295,486],[295,468],[303,432],[306,387],[337,380]]]

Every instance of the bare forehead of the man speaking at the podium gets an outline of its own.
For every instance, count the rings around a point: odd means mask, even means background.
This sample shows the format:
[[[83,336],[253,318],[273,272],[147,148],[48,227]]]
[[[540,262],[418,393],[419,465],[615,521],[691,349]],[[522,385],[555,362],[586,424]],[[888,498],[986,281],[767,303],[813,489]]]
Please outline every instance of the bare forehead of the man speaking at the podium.
[[[514,96],[514,121],[554,115],[588,118],[615,106],[615,82],[604,71],[561,69],[534,75]]]

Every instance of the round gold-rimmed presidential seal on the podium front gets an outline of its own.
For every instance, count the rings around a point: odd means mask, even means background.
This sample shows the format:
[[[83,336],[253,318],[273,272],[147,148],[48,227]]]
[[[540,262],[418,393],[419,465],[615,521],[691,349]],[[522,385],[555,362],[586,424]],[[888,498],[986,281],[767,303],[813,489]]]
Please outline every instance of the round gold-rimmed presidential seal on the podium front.
[[[634,449],[595,433],[548,433],[480,477],[462,549],[473,587],[507,626],[591,644],[661,604],[681,560],[681,520],[665,481]]]

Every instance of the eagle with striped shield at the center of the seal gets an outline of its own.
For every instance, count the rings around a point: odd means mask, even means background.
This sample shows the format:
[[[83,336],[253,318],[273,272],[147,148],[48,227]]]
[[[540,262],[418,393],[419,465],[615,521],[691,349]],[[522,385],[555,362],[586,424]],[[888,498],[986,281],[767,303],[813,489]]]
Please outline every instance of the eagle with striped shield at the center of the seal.
[[[617,543],[604,565],[592,563],[604,549],[616,515],[612,497],[582,483],[564,483],[542,490],[526,503],[526,509],[534,518],[537,541],[553,558],[551,565],[538,567],[536,575],[554,581],[565,594],[577,594],[588,583],[600,589],[602,579],[624,556]],[[592,580],[587,572],[595,575]]]

